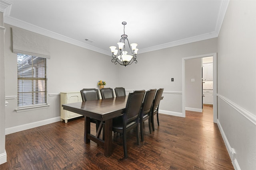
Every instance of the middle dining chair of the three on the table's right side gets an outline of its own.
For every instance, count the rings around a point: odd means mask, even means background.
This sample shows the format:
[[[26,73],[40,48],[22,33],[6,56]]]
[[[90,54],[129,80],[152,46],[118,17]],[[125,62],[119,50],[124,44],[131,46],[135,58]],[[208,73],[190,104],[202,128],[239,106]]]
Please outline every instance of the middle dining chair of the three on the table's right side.
[[[152,104],[154,101],[155,94],[156,94],[156,89],[150,89],[146,91],[146,94],[142,103],[142,107],[140,110],[140,137],[142,142],[144,141],[143,123],[146,120],[148,120],[148,128],[151,134],[150,116],[151,116]]]

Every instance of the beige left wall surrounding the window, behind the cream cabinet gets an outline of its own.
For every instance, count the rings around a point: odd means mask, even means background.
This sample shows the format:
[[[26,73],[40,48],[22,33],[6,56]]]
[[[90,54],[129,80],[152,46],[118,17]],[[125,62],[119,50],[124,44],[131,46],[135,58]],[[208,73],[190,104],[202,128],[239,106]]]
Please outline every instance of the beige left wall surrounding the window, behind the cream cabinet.
[[[60,92],[98,88],[98,80],[105,80],[106,87],[118,85],[118,78],[113,76],[118,68],[111,62],[110,56],[51,38],[51,59],[47,60],[47,97],[50,107],[17,113],[17,55],[12,53],[12,26],[5,24],[5,27],[5,92],[7,98],[12,98],[8,99],[9,104],[6,107],[7,129],[14,127],[22,130],[26,128],[26,124],[49,119],[60,121]]]

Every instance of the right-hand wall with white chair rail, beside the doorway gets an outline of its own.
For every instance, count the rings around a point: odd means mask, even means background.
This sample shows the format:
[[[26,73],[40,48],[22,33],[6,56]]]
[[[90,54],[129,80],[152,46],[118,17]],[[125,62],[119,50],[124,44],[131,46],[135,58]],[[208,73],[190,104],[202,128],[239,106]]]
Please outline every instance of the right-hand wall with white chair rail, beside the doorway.
[[[255,7],[256,1],[230,1],[218,37],[218,125],[241,170],[256,169]]]

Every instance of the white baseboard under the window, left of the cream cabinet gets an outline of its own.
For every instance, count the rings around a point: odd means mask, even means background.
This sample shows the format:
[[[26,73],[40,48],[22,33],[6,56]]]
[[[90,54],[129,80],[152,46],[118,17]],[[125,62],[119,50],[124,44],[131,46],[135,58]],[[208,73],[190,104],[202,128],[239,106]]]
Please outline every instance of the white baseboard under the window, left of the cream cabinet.
[[[46,119],[46,120],[36,121],[36,122],[24,124],[24,125],[9,127],[9,128],[5,129],[5,135],[15,133],[15,132],[19,132],[19,131],[24,131],[24,130],[31,129],[31,128],[34,128],[34,127],[39,127],[39,126],[42,126],[42,125],[47,125],[47,124],[54,123],[54,122],[57,122],[57,121],[60,121],[60,117],[53,117],[51,119]]]

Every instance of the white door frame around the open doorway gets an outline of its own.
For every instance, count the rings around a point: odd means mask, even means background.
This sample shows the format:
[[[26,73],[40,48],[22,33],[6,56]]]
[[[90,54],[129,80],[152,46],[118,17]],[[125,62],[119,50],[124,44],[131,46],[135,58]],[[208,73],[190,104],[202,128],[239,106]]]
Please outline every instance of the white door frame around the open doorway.
[[[196,55],[182,58],[182,117],[186,117],[185,61],[188,59],[196,59],[211,56],[213,56],[213,122],[217,123],[217,53],[209,53],[204,55]]]

